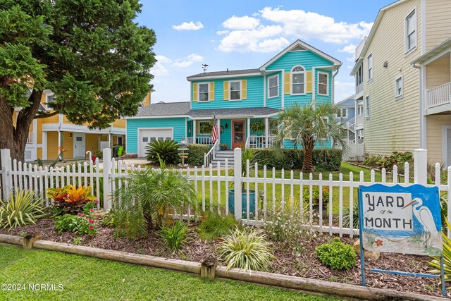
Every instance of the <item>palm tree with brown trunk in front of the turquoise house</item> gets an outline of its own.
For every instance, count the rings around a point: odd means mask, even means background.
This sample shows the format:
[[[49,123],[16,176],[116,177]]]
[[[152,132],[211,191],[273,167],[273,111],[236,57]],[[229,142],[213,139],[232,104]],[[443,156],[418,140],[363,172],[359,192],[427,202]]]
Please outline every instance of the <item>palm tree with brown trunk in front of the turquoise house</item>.
[[[278,121],[278,133],[276,135],[276,148],[283,147],[285,137],[292,137],[294,147],[299,146],[304,150],[302,171],[310,173],[314,171],[313,150],[318,143],[326,146],[329,138],[346,150],[345,128],[335,119],[335,104],[319,104],[310,102],[309,105],[299,106],[294,104],[281,111],[276,119]]]

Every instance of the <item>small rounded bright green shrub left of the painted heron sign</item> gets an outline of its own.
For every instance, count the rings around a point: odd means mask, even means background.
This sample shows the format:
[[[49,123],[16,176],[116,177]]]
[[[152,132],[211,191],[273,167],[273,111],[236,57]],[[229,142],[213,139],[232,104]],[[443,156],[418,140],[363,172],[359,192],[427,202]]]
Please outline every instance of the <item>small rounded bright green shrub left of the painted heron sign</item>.
[[[357,254],[350,245],[340,242],[340,238],[333,238],[332,242],[316,247],[316,257],[332,269],[350,270],[355,264]]]

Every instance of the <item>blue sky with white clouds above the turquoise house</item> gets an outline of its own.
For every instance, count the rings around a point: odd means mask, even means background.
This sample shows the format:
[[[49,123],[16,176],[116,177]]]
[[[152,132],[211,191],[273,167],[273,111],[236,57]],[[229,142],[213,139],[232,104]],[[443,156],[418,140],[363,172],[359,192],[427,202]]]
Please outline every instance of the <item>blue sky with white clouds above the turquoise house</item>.
[[[187,102],[186,77],[259,68],[296,39],[342,61],[335,102],[353,94],[354,47],[380,8],[394,0],[198,1],[142,0],[137,22],[156,32],[152,102]]]

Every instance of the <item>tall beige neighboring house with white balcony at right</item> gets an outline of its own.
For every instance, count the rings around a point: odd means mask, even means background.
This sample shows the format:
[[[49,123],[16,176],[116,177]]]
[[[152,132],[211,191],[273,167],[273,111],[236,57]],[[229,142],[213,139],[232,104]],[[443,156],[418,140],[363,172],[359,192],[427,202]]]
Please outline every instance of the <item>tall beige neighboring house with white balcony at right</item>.
[[[381,8],[351,73],[365,152],[421,147],[429,161],[451,164],[450,54],[450,0],[399,0]]]

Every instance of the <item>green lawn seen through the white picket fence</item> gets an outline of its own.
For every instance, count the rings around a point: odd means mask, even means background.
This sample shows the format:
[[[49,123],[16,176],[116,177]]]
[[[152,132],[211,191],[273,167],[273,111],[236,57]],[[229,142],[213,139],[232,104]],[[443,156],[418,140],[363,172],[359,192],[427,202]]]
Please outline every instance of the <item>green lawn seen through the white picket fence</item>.
[[[364,181],[369,182],[371,180],[371,170],[368,168],[362,168],[362,167],[357,167],[354,166],[352,164],[347,164],[346,162],[342,162],[341,165],[341,170],[340,171],[333,171],[333,172],[323,172],[322,176],[323,176],[323,181],[326,181],[325,185],[327,185],[327,181],[329,180],[329,175],[331,174],[333,177],[333,180],[339,180],[340,177],[340,173],[342,173],[342,178],[344,181],[349,181],[350,180],[350,172],[353,173],[353,178],[354,181],[359,181],[359,174],[360,171],[364,171]],[[275,186],[275,190],[273,193],[273,186],[271,184],[267,184],[266,185],[266,204],[268,209],[273,208],[273,204],[276,207],[280,207],[280,204],[284,203],[285,207],[290,209],[291,208],[291,204],[292,202],[290,201],[290,195],[291,195],[291,186],[290,186],[290,172],[291,171],[284,171],[284,178],[285,178],[285,185],[284,185],[284,190],[282,191],[282,185],[280,184],[276,184]],[[194,171],[190,171],[191,174],[194,174]],[[217,175],[217,170],[213,170],[213,172],[211,173],[213,176]],[[200,175],[202,174],[202,171],[200,170],[200,168],[198,168],[197,174]],[[205,176],[209,176],[209,169],[206,168],[205,170]],[[225,176],[226,175],[226,171],[220,171],[221,176]],[[232,170],[228,171],[228,175],[230,176],[231,174],[233,174]],[[312,173],[312,178],[314,180],[318,180],[319,179],[319,172],[314,172]],[[252,178],[254,178],[255,173],[254,171],[250,172],[250,176]],[[263,178],[264,177],[264,171],[263,168],[259,168],[258,171],[258,176],[259,178]],[[276,170],[275,172],[275,178],[281,178],[282,176],[282,171],[280,170]],[[273,178],[273,171],[272,169],[268,169],[268,171],[266,171],[266,178]],[[300,171],[299,170],[295,170],[293,171],[293,178],[294,179],[299,179],[300,178]],[[304,179],[309,179],[309,174],[303,174],[303,178]],[[376,182],[381,182],[382,180],[382,174],[381,172],[376,171],[375,172],[375,180]],[[391,182],[391,178],[387,178],[388,181]],[[403,180],[403,179],[401,179]],[[197,199],[198,199],[198,204],[199,204],[199,208],[202,209],[202,182],[200,180],[197,181]],[[205,181],[205,195],[204,195],[204,199],[205,199],[205,207],[208,210],[210,207],[210,200],[211,200],[211,204],[213,204],[214,207],[218,206],[218,183],[216,181],[212,181],[212,185],[210,188],[210,181],[207,180]],[[246,185],[246,184],[245,184]],[[246,187],[246,186],[245,186]],[[232,183],[228,183],[228,188],[232,189],[233,188],[233,184]],[[255,184],[253,182],[253,180],[249,181],[249,188],[250,189],[254,189],[255,188]],[[258,190],[264,190],[264,184],[263,183],[259,183],[258,185]],[[308,193],[308,186],[305,185],[304,186],[304,190],[307,191]],[[343,193],[342,193],[342,202],[343,202],[343,207],[349,207],[350,204],[350,190],[349,188],[342,188]],[[339,212],[339,189],[338,187],[333,187],[332,189],[332,194],[333,194],[333,202],[332,202],[332,208],[333,208],[333,214],[338,214]],[[300,188],[299,185],[294,185],[293,186],[293,195],[294,195],[294,207],[298,207],[299,204],[299,199],[300,199]],[[274,197],[273,197],[274,196]],[[353,194],[353,199],[354,202],[357,202],[357,188],[354,189],[354,194]],[[226,205],[226,183],[224,183],[223,181],[221,181],[221,187],[220,187],[220,202],[221,202],[221,207],[225,207]]]

